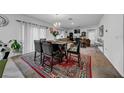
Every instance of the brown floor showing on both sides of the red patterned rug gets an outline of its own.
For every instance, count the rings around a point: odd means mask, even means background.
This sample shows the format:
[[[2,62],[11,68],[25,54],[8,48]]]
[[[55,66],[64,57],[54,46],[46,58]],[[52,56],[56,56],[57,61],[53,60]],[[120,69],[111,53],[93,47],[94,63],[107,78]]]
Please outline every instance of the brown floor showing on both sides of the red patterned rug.
[[[120,78],[120,74],[112,66],[111,62],[95,48],[81,48],[81,53],[91,56],[92,77],[93,78]],[[20,69],[24,77],[39,78],[40,76],[20,57],[13,58],[13,62]]]

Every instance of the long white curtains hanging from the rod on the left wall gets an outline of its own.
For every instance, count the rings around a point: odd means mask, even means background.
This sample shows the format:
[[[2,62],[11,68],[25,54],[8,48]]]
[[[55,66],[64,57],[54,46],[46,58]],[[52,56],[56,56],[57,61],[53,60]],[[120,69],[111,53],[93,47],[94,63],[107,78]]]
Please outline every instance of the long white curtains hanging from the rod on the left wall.
[[[38,25],[29,23],[22,24],[22,44],[23,54],[34,51],[34,40],[46,38],[47,29]]]

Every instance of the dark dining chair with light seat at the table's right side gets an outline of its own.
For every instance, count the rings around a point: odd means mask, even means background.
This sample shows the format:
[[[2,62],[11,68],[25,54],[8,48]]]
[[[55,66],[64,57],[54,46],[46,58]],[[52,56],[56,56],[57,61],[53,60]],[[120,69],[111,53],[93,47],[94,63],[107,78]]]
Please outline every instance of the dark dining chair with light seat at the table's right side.
[[[77,39],[76,43],[74,44],[73,47],[70,47],[67,50],[67,61],[68,61],[68,54],[74,54],[77,55],[78,58],[78,65],[80,66],[80,39]]]

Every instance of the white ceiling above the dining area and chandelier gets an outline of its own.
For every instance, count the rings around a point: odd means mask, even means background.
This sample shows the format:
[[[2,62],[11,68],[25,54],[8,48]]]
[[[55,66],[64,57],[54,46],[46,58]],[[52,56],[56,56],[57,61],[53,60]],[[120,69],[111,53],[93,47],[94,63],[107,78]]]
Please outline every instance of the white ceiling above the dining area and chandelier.
[[[98,25],[103,14],[26,14],[49,23],[60,22],[61,28],[77,28]]]

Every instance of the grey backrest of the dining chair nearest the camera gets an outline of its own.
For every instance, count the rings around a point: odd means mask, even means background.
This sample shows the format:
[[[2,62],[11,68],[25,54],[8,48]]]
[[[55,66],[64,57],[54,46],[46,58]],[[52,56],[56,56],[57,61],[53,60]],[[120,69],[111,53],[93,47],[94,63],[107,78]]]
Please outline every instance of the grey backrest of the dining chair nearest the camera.
[[[43,49],[43,54],[50,55],[50,56],[52,55],[53,46],[51,43],[43,42],[42,49]]]

